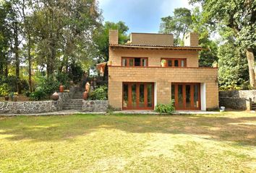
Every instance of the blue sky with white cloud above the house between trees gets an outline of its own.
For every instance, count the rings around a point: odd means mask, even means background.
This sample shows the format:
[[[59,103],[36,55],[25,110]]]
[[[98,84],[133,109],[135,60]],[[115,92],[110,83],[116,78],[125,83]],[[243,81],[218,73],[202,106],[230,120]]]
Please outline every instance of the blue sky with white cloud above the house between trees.
[[[104,21],[123,21],[129,32],[157,33],[161,17],[172,15],[174,9],[192,9],[188,0],[98,0]]]

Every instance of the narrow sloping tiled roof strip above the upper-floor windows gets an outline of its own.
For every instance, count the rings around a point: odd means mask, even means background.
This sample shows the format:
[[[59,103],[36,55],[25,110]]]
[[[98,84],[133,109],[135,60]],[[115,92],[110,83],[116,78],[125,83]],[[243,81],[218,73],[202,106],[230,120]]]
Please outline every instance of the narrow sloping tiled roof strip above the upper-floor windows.
[[[110,47],[117,48],[144,48],[144,49],[176,49],[176,50],[207,50],[200,46],[181,46],[181,45],[134,45],[134,44],[109,44]]]

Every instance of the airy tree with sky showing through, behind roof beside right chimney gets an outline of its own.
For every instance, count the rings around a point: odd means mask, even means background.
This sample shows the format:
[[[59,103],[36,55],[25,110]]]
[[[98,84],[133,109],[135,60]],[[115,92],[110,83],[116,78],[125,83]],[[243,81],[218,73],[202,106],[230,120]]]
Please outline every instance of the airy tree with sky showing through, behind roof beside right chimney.
[[[162,17],[160,32],[165,34],[174,33],[174,44],[182,45],[184,35],[192,25],[191,11],[186,8],[174,9],[174,16]]]

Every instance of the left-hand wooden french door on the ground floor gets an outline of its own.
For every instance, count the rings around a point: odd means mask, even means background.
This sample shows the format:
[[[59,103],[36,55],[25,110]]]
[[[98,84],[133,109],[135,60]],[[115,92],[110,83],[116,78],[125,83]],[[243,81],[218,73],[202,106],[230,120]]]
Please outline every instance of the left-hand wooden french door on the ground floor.
[[[154,84],[145,82],[123,83],[123,110],[153,110]]]

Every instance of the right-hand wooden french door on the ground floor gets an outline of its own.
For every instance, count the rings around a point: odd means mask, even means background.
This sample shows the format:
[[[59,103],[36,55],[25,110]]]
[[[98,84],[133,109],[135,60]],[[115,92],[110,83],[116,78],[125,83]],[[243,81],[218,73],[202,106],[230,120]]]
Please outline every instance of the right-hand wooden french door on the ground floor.
[[[172,83],[171,99],[174,99],[176,110],[200,110],[200,84]]]

